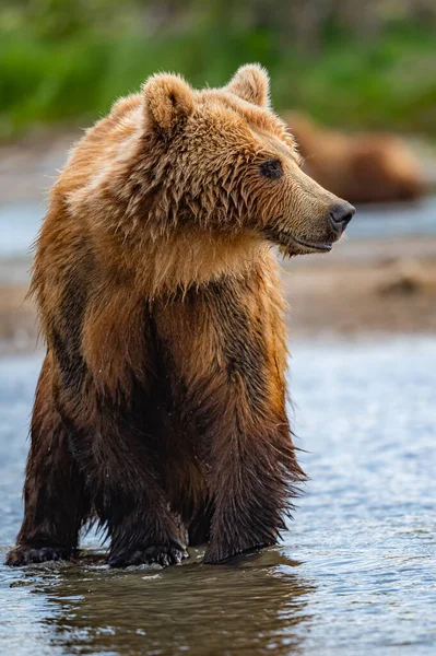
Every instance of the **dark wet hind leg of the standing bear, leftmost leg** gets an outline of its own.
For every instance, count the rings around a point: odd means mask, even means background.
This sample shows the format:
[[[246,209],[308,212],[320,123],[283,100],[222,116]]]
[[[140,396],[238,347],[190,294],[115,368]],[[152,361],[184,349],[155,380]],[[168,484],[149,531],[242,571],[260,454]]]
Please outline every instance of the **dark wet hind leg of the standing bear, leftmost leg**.
[[[39,376],[31,436],[24,520],[5,561],[14,566],[70,558],[90,513],[84,481],[54,406],[50,355]]]

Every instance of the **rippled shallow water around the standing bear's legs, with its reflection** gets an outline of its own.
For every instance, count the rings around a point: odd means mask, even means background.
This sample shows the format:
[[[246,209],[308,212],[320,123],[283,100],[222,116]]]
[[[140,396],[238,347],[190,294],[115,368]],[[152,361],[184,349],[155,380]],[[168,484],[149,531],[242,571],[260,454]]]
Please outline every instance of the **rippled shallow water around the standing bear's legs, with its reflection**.
[[[284,542],[232,564],[0,565],[0,653],[436,653],[436,339],[294,344],[301,461]],[[0,560],[22,517],[40,355],[0,361]],[[101,552],[99,552],[101,553]]]

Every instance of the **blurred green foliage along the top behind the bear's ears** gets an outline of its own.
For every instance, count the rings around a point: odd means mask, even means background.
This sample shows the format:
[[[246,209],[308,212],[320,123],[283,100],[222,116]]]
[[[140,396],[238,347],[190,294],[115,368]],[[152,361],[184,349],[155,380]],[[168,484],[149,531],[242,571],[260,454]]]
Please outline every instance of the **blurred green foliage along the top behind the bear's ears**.
[[[0,137],[85,125],[160,70],[214,86],[248,61],[279,110],[434,132],[435,19],[433,0],[3,0]]]

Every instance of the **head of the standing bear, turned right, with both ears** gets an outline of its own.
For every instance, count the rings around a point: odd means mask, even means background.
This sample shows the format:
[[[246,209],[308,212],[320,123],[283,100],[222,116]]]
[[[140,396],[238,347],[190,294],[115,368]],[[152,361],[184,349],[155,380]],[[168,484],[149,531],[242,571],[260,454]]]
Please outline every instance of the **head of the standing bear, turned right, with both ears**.
[[[201,91],[177,75],[154,75],[142,110],[143,157],[130,207],[146,204],[155,231],[245,234],[291,256],[330,250],[354,214],[303,173],[260,66]]]

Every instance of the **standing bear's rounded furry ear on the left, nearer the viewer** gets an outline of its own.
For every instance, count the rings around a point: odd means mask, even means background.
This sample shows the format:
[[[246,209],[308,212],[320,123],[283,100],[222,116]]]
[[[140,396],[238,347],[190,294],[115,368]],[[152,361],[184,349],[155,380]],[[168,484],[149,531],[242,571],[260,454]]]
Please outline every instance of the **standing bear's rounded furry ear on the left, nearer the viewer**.
[[[166,73],[149,78],[143,86],[145,114],[152,125],[170,131],[193,112],[193,94],[179,75]]]

